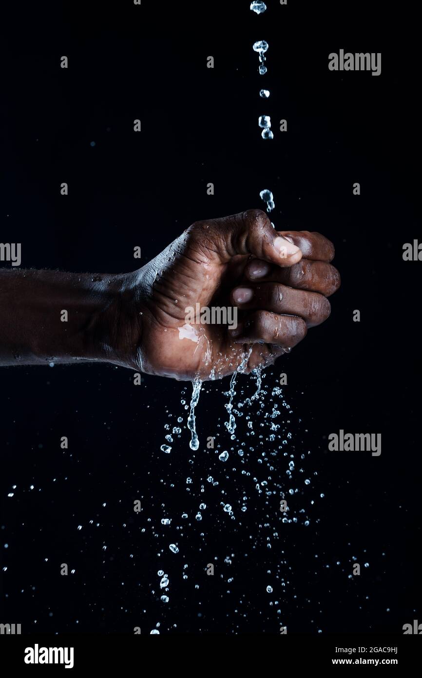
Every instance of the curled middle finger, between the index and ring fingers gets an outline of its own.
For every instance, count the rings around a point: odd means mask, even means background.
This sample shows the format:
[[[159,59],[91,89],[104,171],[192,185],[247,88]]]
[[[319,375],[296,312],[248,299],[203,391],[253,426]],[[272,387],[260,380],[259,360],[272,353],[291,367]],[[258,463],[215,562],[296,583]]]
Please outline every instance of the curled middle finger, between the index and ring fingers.
[[[266,261],[251,259],[245,266],[245,277],[253,282],[284,283],[297,290],[319,292],[324,296],[331,296],[340,287],[339,271],[332,264],[324,261],[301,259],[290,268],[271,266]]]

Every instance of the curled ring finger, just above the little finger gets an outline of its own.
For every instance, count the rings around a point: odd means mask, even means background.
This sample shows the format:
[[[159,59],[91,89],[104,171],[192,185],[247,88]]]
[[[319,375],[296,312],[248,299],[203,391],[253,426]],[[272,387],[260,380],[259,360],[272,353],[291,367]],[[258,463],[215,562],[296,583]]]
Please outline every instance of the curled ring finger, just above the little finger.
[[[299,315],[308,327],[320,325],[331,313],[330,302],[322,294],[294,290],[279,283],[242,285],[235,287],[230,296],[240,311],[263,308],[272,313]]]

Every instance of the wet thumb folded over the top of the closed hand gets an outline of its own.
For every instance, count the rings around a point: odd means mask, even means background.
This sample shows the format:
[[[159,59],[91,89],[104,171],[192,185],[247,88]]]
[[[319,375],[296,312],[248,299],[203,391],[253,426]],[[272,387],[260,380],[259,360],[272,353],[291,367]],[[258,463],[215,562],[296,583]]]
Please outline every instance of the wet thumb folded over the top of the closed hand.
[[[230,261],[237,254],[253,254],[278,266],[292,266],[302,256],[299,247],[275,231],[261,210],[197,222],[191,228],[198,245],[217,252],[222,262]]]

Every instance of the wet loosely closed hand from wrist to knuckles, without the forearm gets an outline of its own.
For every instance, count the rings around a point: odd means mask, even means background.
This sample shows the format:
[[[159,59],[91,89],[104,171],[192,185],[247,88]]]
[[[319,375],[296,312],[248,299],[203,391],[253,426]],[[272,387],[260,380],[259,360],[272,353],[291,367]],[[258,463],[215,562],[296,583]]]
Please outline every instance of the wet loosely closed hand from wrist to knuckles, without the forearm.
[[[126,311],[119,310],[117,330],[123,364],[206,380],[231,374],[242,359],[245,372],[274,363],[329,317],[326,297],[340,284],[333,256],[333,244],[319,233],[275,231],[259,210],[192,224],[123,276]],[[196,304],[236,306],[238,326],[187,323]]]

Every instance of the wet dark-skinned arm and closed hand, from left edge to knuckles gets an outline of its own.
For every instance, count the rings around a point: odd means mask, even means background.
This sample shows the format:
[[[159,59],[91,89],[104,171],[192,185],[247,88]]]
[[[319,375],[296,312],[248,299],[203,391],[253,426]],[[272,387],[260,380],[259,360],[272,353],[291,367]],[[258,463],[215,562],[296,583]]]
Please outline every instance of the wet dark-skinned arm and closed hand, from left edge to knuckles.
[[[179,380],[270,365],[329,317],[333,244],[274,231],[248,210],[196,222],[146,266],[119,275],[0,271],[0,365],[109,362]],[[237,306],[238,327],[191,325],[186,308]],[[68,321],[62,322],[62,311]],[[183,337],[182,333],[182,337]],[[193,340],[192,340],[193,338]]]

